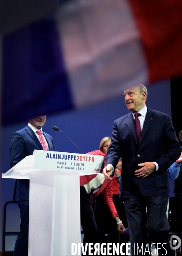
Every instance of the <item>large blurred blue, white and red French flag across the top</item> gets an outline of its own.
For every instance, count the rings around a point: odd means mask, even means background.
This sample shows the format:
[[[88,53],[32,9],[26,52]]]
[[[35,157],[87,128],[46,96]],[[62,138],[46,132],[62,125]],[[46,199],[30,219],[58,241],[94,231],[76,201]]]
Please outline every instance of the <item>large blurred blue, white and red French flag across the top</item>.
[[[182,75],[181,0],[74,0],[3,38],[4,125]]]

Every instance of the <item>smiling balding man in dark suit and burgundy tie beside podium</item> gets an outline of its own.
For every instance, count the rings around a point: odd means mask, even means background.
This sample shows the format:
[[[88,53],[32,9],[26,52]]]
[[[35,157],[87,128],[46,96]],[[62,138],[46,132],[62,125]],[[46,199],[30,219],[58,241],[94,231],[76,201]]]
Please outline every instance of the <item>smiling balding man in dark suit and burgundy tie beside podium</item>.
[[[103,173],[111,179],[107,172],[115,169],[122,157],[120,197],[125,201],[132,255],[148,254],[143,232],[146,214],[147,231],[159,255],[171,255],[166,216],[170,190],[167,169],[181,154],[179,142],[170,117],[146,107],[147,89],[143,84],[125,90],[124,97],[131,113],[114,121]]]

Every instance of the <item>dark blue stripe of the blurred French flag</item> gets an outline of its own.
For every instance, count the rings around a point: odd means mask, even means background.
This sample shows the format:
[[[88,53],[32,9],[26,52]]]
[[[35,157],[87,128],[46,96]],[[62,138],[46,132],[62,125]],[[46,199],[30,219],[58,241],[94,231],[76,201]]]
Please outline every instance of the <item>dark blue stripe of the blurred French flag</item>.
[[[53,19],[3,38],[2,95],[3,125],[73,108]]]

